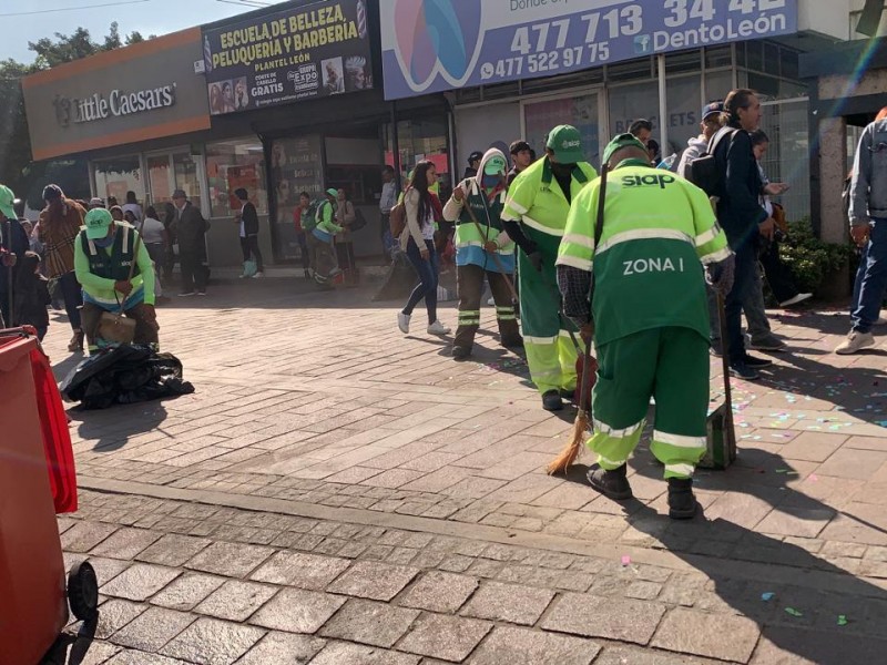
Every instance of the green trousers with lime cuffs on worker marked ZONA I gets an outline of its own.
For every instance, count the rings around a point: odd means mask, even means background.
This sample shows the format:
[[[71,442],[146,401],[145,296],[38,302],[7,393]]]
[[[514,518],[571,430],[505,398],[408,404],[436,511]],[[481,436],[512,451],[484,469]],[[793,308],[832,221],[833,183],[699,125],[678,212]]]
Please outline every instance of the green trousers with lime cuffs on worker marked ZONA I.
[[[706,448],[708,340],[690,328],[653,328],[598,347],[598,362],[588,447],[601,468],[629,460],[654,397],[650,450],[665,464],[665,478],[691,478]]]

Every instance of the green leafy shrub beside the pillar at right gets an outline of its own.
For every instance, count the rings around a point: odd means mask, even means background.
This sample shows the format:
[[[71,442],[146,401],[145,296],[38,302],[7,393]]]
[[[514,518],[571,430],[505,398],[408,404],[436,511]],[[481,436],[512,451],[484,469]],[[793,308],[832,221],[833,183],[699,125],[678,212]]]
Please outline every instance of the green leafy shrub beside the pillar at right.
[[[854,262],[856,248],[849,242],[824,243],[804,217],[788,224],[788,239],[781,245],[779,256],[792,268],[798,289],[815,291],[827,277]]]

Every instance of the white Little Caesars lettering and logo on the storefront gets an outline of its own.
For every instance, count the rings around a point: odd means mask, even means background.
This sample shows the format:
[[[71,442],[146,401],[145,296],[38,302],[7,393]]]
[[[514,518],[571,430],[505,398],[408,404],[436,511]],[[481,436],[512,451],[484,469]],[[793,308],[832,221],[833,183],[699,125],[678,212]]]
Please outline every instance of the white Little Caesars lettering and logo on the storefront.
[[[175,83],[128,92],[112,90],[108,95],[100,92],[85,98],[55,95],[55,120],[63,127],[71,123],[82,124],[109,117],[122,117],[145,111],[175,105]]]

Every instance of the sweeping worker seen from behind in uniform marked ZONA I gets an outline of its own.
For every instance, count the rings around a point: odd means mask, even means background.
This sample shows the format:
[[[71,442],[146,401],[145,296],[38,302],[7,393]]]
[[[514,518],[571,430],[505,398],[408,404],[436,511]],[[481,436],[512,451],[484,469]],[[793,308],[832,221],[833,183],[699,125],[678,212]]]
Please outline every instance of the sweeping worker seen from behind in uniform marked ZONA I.
[[[630,499],[628,460],[656,401],[651,451],[665,466],[669,514],[696,512],[692,477],[706,449],[708,310],[705,272],[730,290],[733,254],[707,195],[650,164],[631,134],[603,153],[612,174],[600,244],[594,246],[600,178],[574,200],[558,252],[564,313],[594,336],[598,382],[592,396],[598,464],[592,488]],[[702,266],[700,265],[702,264]],[[589,290],[594,274],[594,293]]]

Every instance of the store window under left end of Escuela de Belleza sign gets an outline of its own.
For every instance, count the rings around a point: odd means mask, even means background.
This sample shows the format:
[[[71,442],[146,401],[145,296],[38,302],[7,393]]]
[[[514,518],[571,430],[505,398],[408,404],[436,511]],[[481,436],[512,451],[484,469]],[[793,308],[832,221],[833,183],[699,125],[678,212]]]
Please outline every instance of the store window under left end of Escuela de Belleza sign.
[[[230,217],[241,204],[234,192],[245,188],[259,215],[268,214],[265,151],[256,139],[220,141],[206,146],[206,177],[213,217]]]

